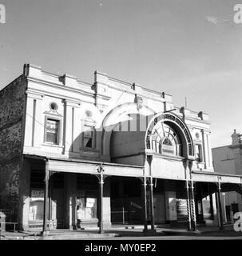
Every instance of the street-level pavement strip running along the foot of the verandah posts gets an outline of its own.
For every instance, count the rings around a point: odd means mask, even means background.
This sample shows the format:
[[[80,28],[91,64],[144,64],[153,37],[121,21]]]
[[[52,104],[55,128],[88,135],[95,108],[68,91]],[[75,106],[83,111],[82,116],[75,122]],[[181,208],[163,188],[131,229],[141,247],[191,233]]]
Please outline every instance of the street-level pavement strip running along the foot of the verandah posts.
[[[150,226],[148,226],[150,229]],[[232,226],[224,226],[224,230],[218,227],[200,226],[196,231],[188,231],[183,228],[171,228],[169,226],[156,226],[156,233],[143,232],[143,226],[112,226],[99,234],[98,229],[93,230],[50,230],[42,236],[41,230],[1,232],[0,240],[75,240],[90,239],[98,240],[115,237],[153,237],[153,236],[242,236],[242,232],[236,232]]]

